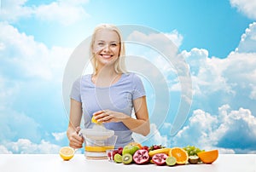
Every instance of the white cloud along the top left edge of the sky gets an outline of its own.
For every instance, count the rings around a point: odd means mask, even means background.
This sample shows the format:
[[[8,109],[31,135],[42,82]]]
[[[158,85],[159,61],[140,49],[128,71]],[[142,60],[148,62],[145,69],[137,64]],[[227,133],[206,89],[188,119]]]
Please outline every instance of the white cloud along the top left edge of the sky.
[[[0,19],[15,22],[22,17],[35,16],[38,20],[55,21],[67,26],[89,16],[83,9],[85,3],[88,0],[57,0],[39,6],[26,6],[26,0],[4,0]]]

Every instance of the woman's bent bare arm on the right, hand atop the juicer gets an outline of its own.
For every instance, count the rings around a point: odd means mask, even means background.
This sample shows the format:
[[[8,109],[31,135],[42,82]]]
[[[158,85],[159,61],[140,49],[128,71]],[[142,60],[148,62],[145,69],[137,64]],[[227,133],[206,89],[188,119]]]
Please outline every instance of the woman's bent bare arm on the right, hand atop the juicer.
[[[136,119],[131,118],[130,116],[122,112],[113,112],[109,110],[95,112],[93,115],[95,116],[95,119],[99,122],[122,122],[125,124],[126,127],[131,129],[132,131],[146,136],[150,132],[146,96],[133,100],[133,106],[135,110]]]

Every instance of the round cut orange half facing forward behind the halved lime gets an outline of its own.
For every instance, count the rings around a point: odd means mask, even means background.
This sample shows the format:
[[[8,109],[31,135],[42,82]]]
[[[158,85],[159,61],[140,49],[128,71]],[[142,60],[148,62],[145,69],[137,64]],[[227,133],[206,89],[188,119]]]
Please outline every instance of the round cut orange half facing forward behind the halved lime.
[[[188,162],[189,155],[188,153],[181,147],[172,147],[172,149],[169,152],[170,157],[176,158],[176,163],[183,165]]]

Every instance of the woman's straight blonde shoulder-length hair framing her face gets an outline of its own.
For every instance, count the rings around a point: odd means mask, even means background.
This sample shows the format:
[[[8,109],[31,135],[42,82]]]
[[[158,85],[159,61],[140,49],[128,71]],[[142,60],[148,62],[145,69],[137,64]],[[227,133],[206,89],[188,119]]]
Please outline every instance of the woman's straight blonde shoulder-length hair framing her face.
[[[125,43],[123,43],[121,33],[117,26],[102,24],[96,26],[90,41],[90,57],[91,64],[93,67],[93,74],[97,73],[97,60],[95,55],[93,54],[93,44],[95,43],[96,33],[102,31],[103,29],[109,29],[110,31],[116,32],[119,36],[120,50],[119,50],[119,58],[114,62],[114,71],[117,73],[125,73]]]

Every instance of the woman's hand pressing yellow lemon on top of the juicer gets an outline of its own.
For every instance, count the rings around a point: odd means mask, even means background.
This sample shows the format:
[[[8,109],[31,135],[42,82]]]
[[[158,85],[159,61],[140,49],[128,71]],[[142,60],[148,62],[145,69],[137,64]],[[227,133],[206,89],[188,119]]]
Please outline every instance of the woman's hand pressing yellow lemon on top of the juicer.
[[[129,118],[129,116],[125,115],[122,112],[114,112],[110,110],[102,110],[93,113],[94,118],[101,123],[118,123],[122,122],[125,118]]]

